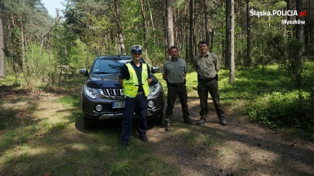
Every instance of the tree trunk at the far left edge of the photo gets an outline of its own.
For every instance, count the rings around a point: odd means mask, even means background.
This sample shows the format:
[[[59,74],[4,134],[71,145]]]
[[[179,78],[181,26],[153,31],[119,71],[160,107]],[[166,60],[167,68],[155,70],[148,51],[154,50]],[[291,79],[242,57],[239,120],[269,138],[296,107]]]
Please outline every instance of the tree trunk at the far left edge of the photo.
[[[5,79],[4,35],[1,8],[0,8],[0,78]]]

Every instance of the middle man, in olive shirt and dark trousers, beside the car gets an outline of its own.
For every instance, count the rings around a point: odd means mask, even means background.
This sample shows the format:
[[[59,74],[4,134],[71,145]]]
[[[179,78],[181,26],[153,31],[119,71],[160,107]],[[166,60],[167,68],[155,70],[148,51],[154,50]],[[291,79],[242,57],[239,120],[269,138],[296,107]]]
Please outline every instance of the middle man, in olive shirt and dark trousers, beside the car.
[[[187,108],[187,92],[185,86],[185,76],[188,71],[186,62],[178,58],[178,47],[170,46],[169,54],[171,59],[167,60],[162,66],[162,79],[167,82],[167,109],[165,113],[165,131],[171,129],[172,110],[179,95],[184,123],[192,125],[193,122],[189,118],[190,113]]]

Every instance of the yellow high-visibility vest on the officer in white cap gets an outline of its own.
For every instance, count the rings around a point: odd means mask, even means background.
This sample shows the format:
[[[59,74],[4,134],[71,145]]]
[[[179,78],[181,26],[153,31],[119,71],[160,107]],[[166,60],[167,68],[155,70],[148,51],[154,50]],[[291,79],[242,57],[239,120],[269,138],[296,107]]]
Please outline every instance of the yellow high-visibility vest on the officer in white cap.
[[[128,67],[128,70],[130,73],[130,79],[123,81],[123,92],[126,96],[134,98],[136,97],[136,93],[138,90],[138,80],[137,80],[135,70],[131,66],[131,64],[127,63],[126,66]],[[148,82],[146,81],[147,78],[148,78],[147,64],[143,63],[142,64],[142,84],[143,84],[143,90],[144,90],[145,96],[148,96],[149,94],[149,86],[148,86]]]

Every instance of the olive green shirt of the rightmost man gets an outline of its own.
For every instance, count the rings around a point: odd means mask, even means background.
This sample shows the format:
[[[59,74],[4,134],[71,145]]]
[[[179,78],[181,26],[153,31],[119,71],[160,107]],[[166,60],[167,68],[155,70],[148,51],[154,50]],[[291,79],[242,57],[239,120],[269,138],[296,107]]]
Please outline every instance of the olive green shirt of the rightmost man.
[[[213,78],[220,70],[218,58],[207,52],[206,56],[198,54],[194,57],[194,68],[201,79]]]

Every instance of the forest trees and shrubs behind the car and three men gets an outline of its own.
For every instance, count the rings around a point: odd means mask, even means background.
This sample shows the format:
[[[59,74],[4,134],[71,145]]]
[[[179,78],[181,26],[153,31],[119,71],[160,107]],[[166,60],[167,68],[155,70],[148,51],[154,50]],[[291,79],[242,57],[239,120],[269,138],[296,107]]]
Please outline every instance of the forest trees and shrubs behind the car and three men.
[[[167,48],[177,45],[193,71],[198,42],[207,41],[229,70],[230,85],[236,70],[284,71],[298,93],[287,90],[283,96],[293,96],[294,103],[271,115],[257,101],[248,114],[271,126],[276,121],[304,128],[313,138],[313,0],[65,0],[63,5],[52,17],[41,0],[0,1],[2,81],[11,76],[13,85],[51,86],[74,79],[96,56],[130,54],[134,44],[144,46],[143,57],[154,66],[162,66]],[[284,112],[290,106],[293,112]]]

